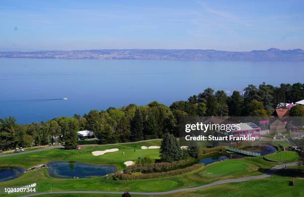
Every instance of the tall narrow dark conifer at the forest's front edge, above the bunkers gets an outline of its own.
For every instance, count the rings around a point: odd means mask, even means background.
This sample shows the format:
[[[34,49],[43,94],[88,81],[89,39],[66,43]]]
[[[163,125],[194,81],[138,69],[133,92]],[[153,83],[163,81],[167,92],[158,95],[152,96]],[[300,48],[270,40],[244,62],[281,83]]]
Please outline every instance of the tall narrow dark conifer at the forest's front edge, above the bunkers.
[[[135,110],[135,116],[133,118],[133,126],[131,131],[132,141],[142,141],[144,140],[143,136],[144,126],[143,126],[143,115],[139,108]]]

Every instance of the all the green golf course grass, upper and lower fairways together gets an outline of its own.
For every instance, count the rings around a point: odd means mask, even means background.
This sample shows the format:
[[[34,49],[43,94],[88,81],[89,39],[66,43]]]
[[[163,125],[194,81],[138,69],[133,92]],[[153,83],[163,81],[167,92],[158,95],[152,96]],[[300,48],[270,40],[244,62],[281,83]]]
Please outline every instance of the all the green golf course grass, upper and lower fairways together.
[[[112,144],[112,145],[83,145],[80,150],[65,150],[65,149],[50,149],[41,152],[33,152],[22,155],[13,155],[0,158],[0,166],[16,166],[28,169],[41,164],[47,164],[52,161],[75,161],[89,164],[106,164],[114,165],[117,171],[121,171],[126,168],[124,162],[135,161],[139,157],[149,156],[152,159],[159,159],[159,149],[142,149],[142,146],[159,146],[161,140],[149,140],[137,143],[125,143],[125,144]],[[93,151],[103,151],[107,149],[119,149],[115,152],[108,152],[104,155],[94,156]],[[203,156],[204,157],[204,156]],[[42,192],[56,192],[56,191],[117,191],[117,192],[166,192],[176,189],[198,187],[213,182],[245,178],[249,176],[259,176],[265,174],[268,170],[274,166],[284,164],[284,162],[296,162],[298,160],[298,154],[293,151],[277,151],[271,155],[266,156],[268,159],[275,160],[276,162],[270,162],[265,160],[262,156],[259,157],[243,157],[240,159],[230,159],[220,162],[216,162],[205,166],[194,172],[185,173],[182,175],[157,178],[157,179],[145,179],[136,181],[121,181],[113,180],[103,177],[83,178],[83,179],[58,179],[53,178],[48,174],[47,168],[41,168],[24,173],[22,176],[0,182],[0,188],[12,188],[22,187],[27,184],[36,183],[36,193]],[[290,173],[280,173],[278,170],[272,176],[254,179],[250,181],[244,181],[241,183],[228,183],[218,186],[213,186],[206,189],[200,189],[195,191],[185,191],[189,196],[229,196],[229,194],[250,194],[255,196],[254,190],[265,190],[267,192],[268,187],[276,187],[280,190],[289,191],[299,195],[304,193],[303,173],[299,174],[299,171],[303,172],[303,167],[292,166],[285,170],[289,170]],[[292,172],[297,173],[292,173]],[[284,172],[282,170],[282,172]],[[295,186],[288,186],[288,182],[295,176]],[[302,185],[302,186],[301,186]],[[298,189],[296,189],[298,188]],[[273,190],[271,190],[273,191]],[[262,195],[265,193],[256,193]],[[292,194],[292,193],[289,193]],[[5,195],[5,194],[1,194]],[[7,195],[7,194],[6,194]],[[13,193],[9,196],[24,196],[25,193]],[[105,194],[104,196],[107,196]],[[167,196],[174,196],[175,194],[167,194]],[[279,196],[284,196],[284,193],[279,193]],[[296,196],[297,196],[296,195]],[[49,196],[49,195],[47,195]],[[53,194],[50,196],[94,196],[94,194]],[[96,196],[96,195],[95,195]],[[99,194],[100,196],[100,194]],[[108,196],[115,196],[108,195]],[[116,195],[121,196],[121,195]],[[133,195],[132,195],[133,196]],[[164,195],[161,195],[164,196]]]

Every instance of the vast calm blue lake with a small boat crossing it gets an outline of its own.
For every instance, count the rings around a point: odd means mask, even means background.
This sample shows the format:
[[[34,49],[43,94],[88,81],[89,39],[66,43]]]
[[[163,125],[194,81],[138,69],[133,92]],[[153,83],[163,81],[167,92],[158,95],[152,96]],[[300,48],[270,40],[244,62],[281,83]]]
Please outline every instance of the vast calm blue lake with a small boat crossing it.
[[[0,58],[0,68],[0,118],[18,123],[152,100],[170,105],[208,87],[304,82],[304,62]]]

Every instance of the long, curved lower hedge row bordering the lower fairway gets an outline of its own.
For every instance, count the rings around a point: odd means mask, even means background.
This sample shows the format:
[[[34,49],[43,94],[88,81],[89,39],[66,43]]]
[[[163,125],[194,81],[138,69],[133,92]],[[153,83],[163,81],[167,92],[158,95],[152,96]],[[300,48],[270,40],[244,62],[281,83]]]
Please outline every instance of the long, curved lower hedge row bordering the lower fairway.
[[[125,173],[116,172],[113,175],[113,179],[123,180],[123,181],[134,181],[134,180],[142,180],[142,179],[157,179],[157,178],[164,178],[176,175],[182,175],[185,173],[190,173],[196,170],[199,170],[204,167],[204,164],[194,164],[193,166],[189,166],[186,168],[171,170],[167,172],[158,172],[158,173],[147,173],[147,174],[140,174],[140,175],[130,175]]]

